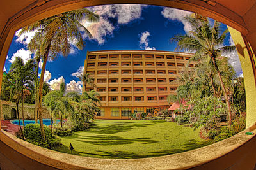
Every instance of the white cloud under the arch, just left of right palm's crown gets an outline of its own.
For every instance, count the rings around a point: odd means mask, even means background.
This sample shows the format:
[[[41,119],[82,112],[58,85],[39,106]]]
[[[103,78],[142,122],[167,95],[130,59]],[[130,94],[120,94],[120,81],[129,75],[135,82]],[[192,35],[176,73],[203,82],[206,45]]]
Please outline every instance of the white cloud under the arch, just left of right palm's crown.
[[[184,20],[184,17],[186,17],[187,15],[190,15],[191,12],[166,7],[166,8],[164,8],[163,11],[161,11],[161,13],[164,18],[168,18],[169,20],[178,20],[178,21],[182,22],[182,24],[184,25],[185,32],[188,33],[189,31],[192,30],[191,25],[186,23]]]

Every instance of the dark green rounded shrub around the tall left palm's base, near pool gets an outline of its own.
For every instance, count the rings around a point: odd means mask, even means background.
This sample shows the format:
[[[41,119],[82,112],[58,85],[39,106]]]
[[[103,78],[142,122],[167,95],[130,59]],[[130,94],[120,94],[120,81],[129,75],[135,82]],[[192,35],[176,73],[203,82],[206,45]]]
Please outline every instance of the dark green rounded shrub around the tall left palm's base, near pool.
[[[41,136],[40,124],[28,124],[24,127],[24,136],[26,141],[44,148],[53,148],[61,145],[61,140],[56,138],[46,125],[44,125],[44,131],[45,141],[43,141]]]

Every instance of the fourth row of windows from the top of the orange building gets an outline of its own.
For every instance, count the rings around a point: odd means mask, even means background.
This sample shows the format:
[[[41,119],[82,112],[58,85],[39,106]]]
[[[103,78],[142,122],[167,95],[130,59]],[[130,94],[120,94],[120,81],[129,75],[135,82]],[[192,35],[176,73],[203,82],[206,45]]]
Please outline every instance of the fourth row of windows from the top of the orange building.
[[[109,78],[108,82],[109,83],[118,83],[118,78]],[[173,82],[177,80],[177,78],[169,78],[169,82]],[[122,83],[131,83],[132,79],[131,78],[122,78],[121,82]],[[158,82],[166,82],[166,78],[157,78]],[[107,79],[106,78],[97,78],[97,83],[106,83]],[[133,79],[134,83],[142,83],[143,82],[143,78],[134,78]],[[156,82],[156,78],[146,78],[146,82],[147,83],[154,83]]]

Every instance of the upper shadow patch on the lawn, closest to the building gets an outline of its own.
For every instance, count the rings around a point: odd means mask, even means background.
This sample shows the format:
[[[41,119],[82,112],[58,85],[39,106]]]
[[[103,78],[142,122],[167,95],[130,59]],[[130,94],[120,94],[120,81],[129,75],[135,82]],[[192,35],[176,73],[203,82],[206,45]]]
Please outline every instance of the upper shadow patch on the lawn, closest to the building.
[[[110,124],[110,125],[97,125],[93,124],[90,129],[87,129],[86,132],[93,134],[115,134],[118,132],[131,131],[134,127],[147,127],[147,125],[152,124]]]

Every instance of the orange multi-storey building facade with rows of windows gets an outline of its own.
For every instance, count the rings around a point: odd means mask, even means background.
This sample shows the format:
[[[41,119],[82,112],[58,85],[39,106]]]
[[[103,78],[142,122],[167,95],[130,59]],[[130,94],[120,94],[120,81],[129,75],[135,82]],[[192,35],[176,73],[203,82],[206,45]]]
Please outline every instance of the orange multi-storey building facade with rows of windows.
[[[128,119],[150,108],[168,108],[166,97],[175,94],[177,75],[191,53],[153,50],[87,52],[84,73],[90,73],[101,101],[97,118]],[[190,64],[189,67],[195,67]]]

